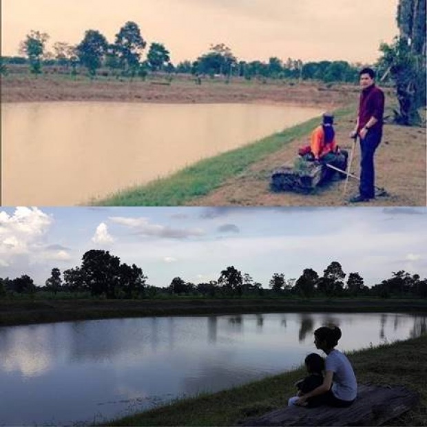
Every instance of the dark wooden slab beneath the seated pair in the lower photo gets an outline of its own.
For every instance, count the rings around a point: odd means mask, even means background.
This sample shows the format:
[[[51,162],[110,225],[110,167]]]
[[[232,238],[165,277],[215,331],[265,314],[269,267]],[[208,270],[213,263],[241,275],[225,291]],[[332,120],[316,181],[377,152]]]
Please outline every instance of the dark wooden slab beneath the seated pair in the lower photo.
[[[357,398],[348,408],[286,406],[243,426],[381,426],[419,402],[419,395],[404,387],[358,385]]]

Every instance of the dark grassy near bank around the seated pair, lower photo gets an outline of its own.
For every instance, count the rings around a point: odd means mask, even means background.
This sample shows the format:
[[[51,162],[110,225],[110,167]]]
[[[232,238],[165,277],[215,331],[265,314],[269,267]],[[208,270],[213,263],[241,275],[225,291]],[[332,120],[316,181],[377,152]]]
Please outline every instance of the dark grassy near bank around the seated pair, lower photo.
[[[402,385],[419,393],[420,404],[388,425],[427,426],[427,335],[355,351],[348,358],[360,383]],[[220,393],[184,399],[109,421],[107,425],[235,426],[248,417],[284,406],[287,397],[295,393],[294,382],[304,375],[304,369],[299,368]]]

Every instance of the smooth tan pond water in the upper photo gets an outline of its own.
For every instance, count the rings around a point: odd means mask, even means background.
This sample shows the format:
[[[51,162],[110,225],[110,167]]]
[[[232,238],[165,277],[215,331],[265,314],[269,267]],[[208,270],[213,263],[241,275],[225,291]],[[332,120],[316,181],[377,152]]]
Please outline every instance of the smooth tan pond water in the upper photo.
[[[7,103],[3,205],[77,205],[322,113],[289,105]]]

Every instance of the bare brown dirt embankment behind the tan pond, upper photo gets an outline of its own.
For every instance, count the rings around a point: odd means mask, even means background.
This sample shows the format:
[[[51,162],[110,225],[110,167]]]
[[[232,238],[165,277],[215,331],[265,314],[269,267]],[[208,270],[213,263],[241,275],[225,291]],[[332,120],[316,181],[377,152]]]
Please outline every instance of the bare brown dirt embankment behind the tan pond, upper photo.
[[[357,98],[357,86],[332,86],[294,82],[247,82],[244,80],[194,79],[121,81],[65,76],[10,74],[1,79],[2,102],[29,101],[118,101],[149,103],[246,103],[254,101],[298,103],[336,107]]]

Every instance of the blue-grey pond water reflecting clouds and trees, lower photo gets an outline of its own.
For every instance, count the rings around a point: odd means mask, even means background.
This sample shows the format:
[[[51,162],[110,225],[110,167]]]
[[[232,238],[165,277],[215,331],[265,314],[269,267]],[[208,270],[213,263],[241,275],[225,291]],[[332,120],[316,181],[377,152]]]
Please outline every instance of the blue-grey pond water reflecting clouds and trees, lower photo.
[[[0,425],[102,421],[299,366],[324,324],[340,325],[348,351],[426,333],[426,319],[287,313],[1,327]]]

